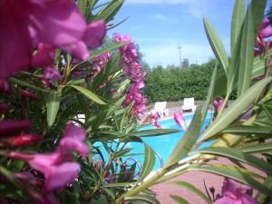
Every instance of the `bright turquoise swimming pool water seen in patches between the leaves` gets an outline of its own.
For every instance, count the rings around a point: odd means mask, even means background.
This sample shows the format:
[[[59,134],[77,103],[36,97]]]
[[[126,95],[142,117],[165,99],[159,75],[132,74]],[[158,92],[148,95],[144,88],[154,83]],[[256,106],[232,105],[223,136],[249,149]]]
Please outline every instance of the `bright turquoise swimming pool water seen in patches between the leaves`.
[[[193,114],[189,114],[189,115],[185,116],[185,121],[186,121],[187,127],[189,126],[189,123],[192,120],[192,118],[193,118]],[[206,117],[204,124],[202,126],[202,130],[209,124],[210,119],[211,119],[211,112],[208,112],[207,117]],[[160,127],[162,129],[178,129],[178,130],[180,130],[180,132],[177,132],[177,133],[166,134],[166,135],[156,136],[156,137],[142,138],[142,140],[145,141],[147,144],[149,144],[154,151],[156,151],[160,154],[160,157],[162,158],[163,163],[165,163],[166,160],[170,156],[170,152],[173,151],[175,145],[180,141],[180,139],[184,135],[184,131],[181,130],[180,126],[178,124],[176,124],[176,122],[174,121],[173,118],[166,119],[166,120],[160,120],[159,123],[160,123]],[[150,129],[156,129],[156,127],[154,127],[153,125],[147,125],[147,126],[142,127],[141,131],[150,130]],[[209,146],[211,144],[211,142],[212,141],[202,144],[200,146],[200,148],[204,148],[204,147]],[[95,146],[101,146],[101,145],[97,145],[98,142],[95,144],[96,144]],[[137,154],[137,153],[143,154],[144,153],[144,145],[139,142],[129,142],[126,145],[126,148],[133,148],[133,150],[130,151],[129,154]],[[105,151],[104,150],[101,150],[101,151],[102,151],[103,155],[105,155]],[[141,165],[144,162],[143,155],[131,156],[131,157],[133,157],[136,160],[139,160]],[[160,160],[156,156],[156,163],[155,163],[153,170],[159,170],[159,169],[160,169]]]

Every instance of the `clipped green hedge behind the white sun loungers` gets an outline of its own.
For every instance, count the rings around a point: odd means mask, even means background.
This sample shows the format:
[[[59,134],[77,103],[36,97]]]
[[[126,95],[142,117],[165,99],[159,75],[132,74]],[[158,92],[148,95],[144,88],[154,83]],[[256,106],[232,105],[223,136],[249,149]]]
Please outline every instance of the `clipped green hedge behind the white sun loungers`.
[[[144,94],[149,102],[174,102],[188,97],[205,100],[215,65],[216,61],[211,60],[209,63],[191,65],[189,68],[153,68],[146,77]]]

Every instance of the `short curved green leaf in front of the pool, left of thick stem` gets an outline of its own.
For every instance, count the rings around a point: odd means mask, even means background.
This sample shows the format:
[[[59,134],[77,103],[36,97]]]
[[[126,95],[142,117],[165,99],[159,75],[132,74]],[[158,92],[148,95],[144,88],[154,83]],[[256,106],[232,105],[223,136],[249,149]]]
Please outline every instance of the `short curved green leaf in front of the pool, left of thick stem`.
[[[149,145],[144,144],[144,162],[141,169],[141,176],[139,177],[139,181],[143,180],[151,173],[154,165],[155,153]]]

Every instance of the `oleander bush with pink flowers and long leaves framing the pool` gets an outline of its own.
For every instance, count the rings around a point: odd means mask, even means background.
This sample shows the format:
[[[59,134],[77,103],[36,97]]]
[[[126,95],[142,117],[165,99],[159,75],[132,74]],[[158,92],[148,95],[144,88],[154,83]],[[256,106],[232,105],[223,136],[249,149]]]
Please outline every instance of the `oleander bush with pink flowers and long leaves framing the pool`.
[[[173,183],[207,203],[271,203],[271,27],[263,18],[267,1],[252,0],[247,10],[245,1],[235,1],[230,57],[204,18],[217,58],[209,67],[206,102],[189,127],[180,112],[175,114],[185,133],[165,165],[152,174],[155,152],[143,139],[179,130],[160,129],[158,113],[147,118],[158,129],[142,131],[137,122],[147,102],[141,93],[146,73],[138,49],[128,34],[106,36],[119,24],[114,15],[122,4],[1,1],[0,203],[156,204],[160,201],[152,185],[192,170],[227,178],[217,198],[182,180]],[[203,77],[203,70],[188,72]],[[237,99],[228,106],[234,90]],[[202,130],[211,103],[216,108],[213,120]],[[139,155],[131,154],[131,141],[144,146],[141,165],[133,158]],[[214,143],[199,149],[206,141]],[[209,162],[219,157],[233,165]],[[188,203],[187,198],[172,199]]]

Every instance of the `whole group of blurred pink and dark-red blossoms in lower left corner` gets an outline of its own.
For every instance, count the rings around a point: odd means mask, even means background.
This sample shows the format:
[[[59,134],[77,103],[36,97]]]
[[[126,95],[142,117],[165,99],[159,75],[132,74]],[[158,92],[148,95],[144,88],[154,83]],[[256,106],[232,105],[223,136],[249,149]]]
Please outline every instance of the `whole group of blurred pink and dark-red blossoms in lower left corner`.
[[[0,134],[10,136],[16,132],[26,131],[32,126],[31,121],[1,121]],[[89,148],[83,142],[86,138],[86,131],[77,127],[72,122],[66,125],[63,139],[53,153],[23,153],[17,151],[6,152],[6,157],[13,160],[24,160],[29,165],[44,175],[44,182],[35,179],[30,172],[15,173],[15,177],[22,180],[26,191],[32,195],[38,203],[56,204],[58,203],[53,197],[54,190],[62,190],[67,184],[71,184],[78,176],[80,164],[73,161],[73,151],[78,152],[83,159],[86,159]],[[2,138],[1,138],[2,139]],[[10,145],[29,145],[34,141],[42,141],[43,137],[35,135],[12,136],[3,141]],[[24,177],[18,175],[24,174]],[[38,189],[39,190],[38,190]],[[42,190],[44,189],[44,190]],[[42,192],[43,191],[43,192]]]

